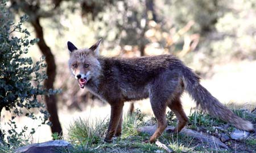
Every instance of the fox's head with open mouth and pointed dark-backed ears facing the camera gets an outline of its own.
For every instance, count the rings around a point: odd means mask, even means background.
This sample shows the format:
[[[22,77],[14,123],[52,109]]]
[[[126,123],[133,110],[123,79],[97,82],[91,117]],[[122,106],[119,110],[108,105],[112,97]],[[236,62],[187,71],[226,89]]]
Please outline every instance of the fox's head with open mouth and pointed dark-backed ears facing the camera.
[[[72,42],[68,41],[70,52],[69,69],[79,82],[79,86],[84,88],[85,84],[100,75],[101,65],[97,57],[100,50],[101,40],[90,48],[77,49]]]

